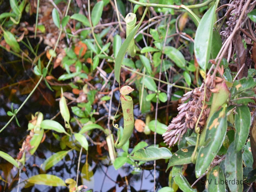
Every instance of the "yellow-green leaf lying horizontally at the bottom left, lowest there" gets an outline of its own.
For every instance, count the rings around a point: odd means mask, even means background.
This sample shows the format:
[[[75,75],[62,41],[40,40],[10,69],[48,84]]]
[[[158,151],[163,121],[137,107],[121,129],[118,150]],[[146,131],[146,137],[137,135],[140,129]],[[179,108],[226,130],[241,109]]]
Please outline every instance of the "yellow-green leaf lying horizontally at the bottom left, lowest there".
[[[29,183],[34,183],[38,185],[48,185],[48,186],[66,186],[65,182],[55,176],[55,175],[49,175],[49,174],[39,174],[39,175],[34,175],[30,178],[27,179]]]

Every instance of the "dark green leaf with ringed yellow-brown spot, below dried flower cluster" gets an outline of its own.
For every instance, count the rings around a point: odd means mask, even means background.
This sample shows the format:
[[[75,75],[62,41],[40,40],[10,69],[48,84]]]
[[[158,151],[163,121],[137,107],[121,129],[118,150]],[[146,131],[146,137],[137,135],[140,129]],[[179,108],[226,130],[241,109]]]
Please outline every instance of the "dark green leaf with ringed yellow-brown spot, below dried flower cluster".
[[[183,165],[191,163],[191,156],[194,152],[195,146],[183,147],[176,151],[169,160],[167,170],[174,165]]]

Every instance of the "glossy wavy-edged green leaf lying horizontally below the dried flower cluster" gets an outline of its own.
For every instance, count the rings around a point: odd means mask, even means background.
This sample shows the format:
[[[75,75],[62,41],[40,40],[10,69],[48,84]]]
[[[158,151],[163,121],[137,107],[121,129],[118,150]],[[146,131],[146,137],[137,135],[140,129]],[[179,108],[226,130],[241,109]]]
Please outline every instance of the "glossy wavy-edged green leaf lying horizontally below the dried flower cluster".
[[[154,161],[157,159],[169,159],[171,157],[172,153],[165,147],[147,147],[146,149],[142,148],[135,151],[131,158],[137,161]]]

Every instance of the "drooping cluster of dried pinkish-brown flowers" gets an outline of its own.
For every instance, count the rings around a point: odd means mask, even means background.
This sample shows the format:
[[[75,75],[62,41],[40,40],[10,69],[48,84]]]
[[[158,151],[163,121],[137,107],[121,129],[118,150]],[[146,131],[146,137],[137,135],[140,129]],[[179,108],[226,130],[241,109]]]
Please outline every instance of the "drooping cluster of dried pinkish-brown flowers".
[[[209,101],[210,96],[211,91],[207,86],[206,102]],[[178,107],[178,115],[173,118],[166,132],[163,134],[164,143],[169,145],[169,147],[173,146],[177,141],[180,142],[180,139],[187,132],[188,128],[194,129],[203,107],[204,109],[198,122],[198,127],[201,129],[206,123],[210,108],[207,107],[207,104],[203,106],[204,88],[195,88],[187,92],[183,95],[181,100],[185,102],[188,99],[189,101],[187,103],[180,104]]]

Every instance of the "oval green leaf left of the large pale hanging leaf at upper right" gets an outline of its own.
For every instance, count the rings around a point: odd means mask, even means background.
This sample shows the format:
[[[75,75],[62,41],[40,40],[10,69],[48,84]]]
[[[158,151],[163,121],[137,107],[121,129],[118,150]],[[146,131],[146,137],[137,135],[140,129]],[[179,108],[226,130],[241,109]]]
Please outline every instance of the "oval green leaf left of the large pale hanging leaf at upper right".
[[[185,58],[178,49],[171,46],[166,46],[164,49],[164,54],[166,54],[167,57],[177,65],[177,67],[185,69]]]

